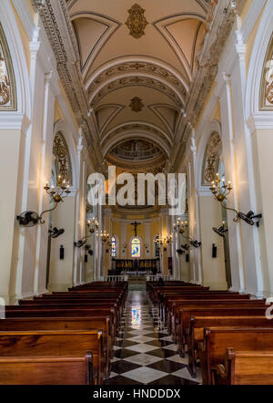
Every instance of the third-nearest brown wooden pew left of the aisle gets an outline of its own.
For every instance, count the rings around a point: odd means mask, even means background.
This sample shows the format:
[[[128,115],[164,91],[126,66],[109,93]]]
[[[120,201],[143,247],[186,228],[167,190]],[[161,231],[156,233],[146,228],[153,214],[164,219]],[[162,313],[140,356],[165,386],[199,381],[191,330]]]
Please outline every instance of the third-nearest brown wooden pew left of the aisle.
[[[0,320],[0,331],[32,330],[96,330],[102,331],[102,367],[105,377],[109,377],[110,359],[114,339],[111,335],[109,316],[93,317],[15,317]]]

